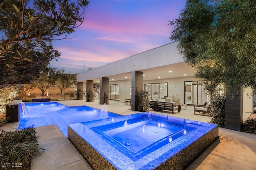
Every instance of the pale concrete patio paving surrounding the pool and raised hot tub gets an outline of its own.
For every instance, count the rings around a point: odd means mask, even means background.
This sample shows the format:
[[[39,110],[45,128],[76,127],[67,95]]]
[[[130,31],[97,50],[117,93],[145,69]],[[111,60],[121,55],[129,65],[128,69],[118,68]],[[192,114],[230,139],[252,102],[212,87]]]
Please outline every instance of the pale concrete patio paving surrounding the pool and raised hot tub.
[[[67,106],[88,105],[101,109],[98,102],[59,101]],[[194,115],[194,107],[175,113],[172,116],[197,121],[210,121],[209,117]],[[120,115],[138,113],[130,110],[125,103],[110,101],[108,111]],[[150,111],[154,112],[154,111]],[[168,111],[155,112],[170,114]],[[250,116],[244,113],[246,120]],[[10,123],[4,130],[17,128],[18,123]],[[38,143],[45,150],[41,156],[32,159],[31,170],[92,170],[71,142],[56,125],[36,128]],[[256,135],[225,128],[219,128],[219,138],[211,144],[186,170],[256,170]]]

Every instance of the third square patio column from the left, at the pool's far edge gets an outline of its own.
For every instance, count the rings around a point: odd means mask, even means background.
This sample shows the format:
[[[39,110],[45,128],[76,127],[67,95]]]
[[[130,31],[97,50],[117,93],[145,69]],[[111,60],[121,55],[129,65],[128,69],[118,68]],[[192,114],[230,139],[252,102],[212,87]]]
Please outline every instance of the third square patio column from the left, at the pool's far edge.
[[[108,77],[100,77],[100,104],[103,105],[104,103],[108,104]],[[107,98],[107,99],[106,99]],[[106,101],[105,101],[106,100]]]

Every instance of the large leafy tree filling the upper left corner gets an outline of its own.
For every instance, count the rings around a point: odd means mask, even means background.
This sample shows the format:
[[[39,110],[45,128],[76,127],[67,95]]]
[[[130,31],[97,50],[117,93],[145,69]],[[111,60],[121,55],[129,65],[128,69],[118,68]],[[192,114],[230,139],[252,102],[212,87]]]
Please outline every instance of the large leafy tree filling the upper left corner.
[[[1,9],[1,85],[26,84],[60,53],[51,44],[84,20],[86,0],[4,0]]]

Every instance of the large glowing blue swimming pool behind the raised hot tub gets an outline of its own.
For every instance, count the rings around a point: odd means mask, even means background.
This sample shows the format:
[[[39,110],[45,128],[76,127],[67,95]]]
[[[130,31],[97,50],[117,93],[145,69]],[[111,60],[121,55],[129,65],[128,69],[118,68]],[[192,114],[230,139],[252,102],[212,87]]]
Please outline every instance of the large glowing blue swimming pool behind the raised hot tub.
[[[87,106],[68,107],[57,102],[26,103],[20,115],[18,129],[56,124],[68,136],[69,124],[117,116],[120,115]]]

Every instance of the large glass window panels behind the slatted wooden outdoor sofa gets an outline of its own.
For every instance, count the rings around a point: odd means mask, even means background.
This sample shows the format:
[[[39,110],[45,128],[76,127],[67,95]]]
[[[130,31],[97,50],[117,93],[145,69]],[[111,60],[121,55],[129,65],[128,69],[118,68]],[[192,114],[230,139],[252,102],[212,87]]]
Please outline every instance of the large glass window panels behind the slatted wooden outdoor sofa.
[[[162,99],[168,96],[168,83],[145,84],[145,90],[149,92],[149,99]]]

